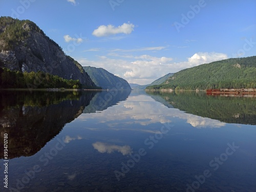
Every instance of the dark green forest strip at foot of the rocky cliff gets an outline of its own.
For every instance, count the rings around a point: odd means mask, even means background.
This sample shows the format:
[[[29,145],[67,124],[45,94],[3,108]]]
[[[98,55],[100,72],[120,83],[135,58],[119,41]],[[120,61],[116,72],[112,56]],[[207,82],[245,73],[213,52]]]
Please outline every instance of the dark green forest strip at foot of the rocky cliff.
[[[38,72],[11,71],[7,68],[0,68],[0,89],[7,88],[66,88],[80,89],[82,85],[79,80],[63,79],[57,75]]]

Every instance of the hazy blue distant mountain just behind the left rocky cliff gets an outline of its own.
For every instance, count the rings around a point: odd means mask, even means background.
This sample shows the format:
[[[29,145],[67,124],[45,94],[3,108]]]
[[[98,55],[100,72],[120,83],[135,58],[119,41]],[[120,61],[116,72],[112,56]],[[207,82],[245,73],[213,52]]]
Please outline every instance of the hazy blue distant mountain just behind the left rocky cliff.
[[[102,69],[91,66],[83,67],[83,69],[89,74],[96,86],[102,89],[127,89],[131,90],[129,83],[115,76],[114,74]]]

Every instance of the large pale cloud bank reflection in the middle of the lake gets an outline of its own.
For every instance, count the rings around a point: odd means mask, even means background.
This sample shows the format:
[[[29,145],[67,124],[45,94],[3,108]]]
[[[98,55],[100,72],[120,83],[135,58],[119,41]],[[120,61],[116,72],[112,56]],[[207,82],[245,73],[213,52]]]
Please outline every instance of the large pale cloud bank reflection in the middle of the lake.
[[[197,127],[198,129],[206,127],[219,128],[226,125],[226,123],[220,122],[219,120],[185,113],[179,109],[167,108],[164,104],[156,102],[147,95],[129,96],[129,98],[117,103],[117,105],[112,106],[111,110],[102,111],[100,114],[82,114],[78,119],[98,119],[99,123],[107,123],[108,127],[112,127],[114,130],[124,130],[124,124],[132,125],[134,123],[148,127],[148,125],[154,123],[170,123],[173,118],[184,119],[191,126]],[[122,128],[120,128],[119,122],[115,122],[117,119],[122,121]],[[133,121],[131,121],[131,119],[133,119]],[[156,129],[157,128],[158,127],[156,127]],[[156,131],[154,127],[151,127],[151,129],[152,130],[147,128],[147,131]],[[144,132],[145,130],[136,129],[135,131]]]

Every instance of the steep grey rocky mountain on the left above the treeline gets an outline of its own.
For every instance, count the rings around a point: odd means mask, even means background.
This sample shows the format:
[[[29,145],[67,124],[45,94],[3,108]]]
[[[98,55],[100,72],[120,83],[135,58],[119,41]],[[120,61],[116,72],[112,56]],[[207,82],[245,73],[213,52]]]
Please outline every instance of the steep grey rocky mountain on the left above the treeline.
[[[30,20],[0,17],[0,67],[22,73],[41,71],[95,87],[82,66]]]

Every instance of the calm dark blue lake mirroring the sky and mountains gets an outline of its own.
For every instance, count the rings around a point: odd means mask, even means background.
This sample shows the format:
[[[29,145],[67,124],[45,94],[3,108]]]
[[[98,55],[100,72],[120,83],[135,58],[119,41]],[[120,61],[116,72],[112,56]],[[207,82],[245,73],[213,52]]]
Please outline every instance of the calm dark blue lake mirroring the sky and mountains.
[[[1,191],[256,191],[252,96],[1,91],[0,131]]]

